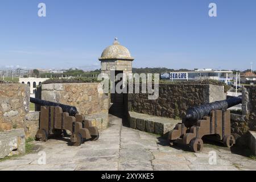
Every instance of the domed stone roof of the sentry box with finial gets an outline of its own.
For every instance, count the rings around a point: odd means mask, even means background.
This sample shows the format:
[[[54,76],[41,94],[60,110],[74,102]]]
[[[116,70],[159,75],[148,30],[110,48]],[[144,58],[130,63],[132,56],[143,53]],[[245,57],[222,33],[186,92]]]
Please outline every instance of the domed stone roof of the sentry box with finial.
[[[131,57],[130,51],[119,44],[117,38],[115,38],[114,43],[112,46],[109,46],[104,49],[101,54],[99,60],[113,60],[113,59],[120,59],[120,60],[130,60],[133,61],[134,58]]]

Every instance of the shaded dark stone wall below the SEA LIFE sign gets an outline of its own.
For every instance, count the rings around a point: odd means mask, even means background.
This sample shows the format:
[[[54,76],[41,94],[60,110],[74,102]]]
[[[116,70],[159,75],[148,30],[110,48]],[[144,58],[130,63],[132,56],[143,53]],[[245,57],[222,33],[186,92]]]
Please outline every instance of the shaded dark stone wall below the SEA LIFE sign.
[[[140,89],[141,90],[141,89]],[[148,100],[148,94],[127,94],[128,110],[167,118],[182,118],[195,105],[225,100],[224,86],[203,84],[159,84],[159,97]]]

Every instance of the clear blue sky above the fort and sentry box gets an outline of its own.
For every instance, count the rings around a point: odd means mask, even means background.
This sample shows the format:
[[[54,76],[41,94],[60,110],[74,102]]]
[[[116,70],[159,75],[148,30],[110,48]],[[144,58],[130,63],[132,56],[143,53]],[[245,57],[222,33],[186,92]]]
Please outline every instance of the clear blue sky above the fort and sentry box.
[[[256,67],[255,10],[255,0],[1,0],[0,67],[100,68],[116,36],[135,68],[244,70]]]

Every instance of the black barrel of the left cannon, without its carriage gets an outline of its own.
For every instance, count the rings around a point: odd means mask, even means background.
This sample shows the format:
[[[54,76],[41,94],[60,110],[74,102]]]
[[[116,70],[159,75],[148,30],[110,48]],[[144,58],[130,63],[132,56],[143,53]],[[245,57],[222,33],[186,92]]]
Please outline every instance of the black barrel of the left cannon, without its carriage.
[[[38,98],[32,98],[30,97],[30,102],[34,104],[38,104],[40,106],[60,106],[63,112],[69,113],[69,115],[75,116],[78,112],[75,106],[69,106],[64,104],[59,104],[56,102],[50,102],[50,101],[44,101],[40,100]]]

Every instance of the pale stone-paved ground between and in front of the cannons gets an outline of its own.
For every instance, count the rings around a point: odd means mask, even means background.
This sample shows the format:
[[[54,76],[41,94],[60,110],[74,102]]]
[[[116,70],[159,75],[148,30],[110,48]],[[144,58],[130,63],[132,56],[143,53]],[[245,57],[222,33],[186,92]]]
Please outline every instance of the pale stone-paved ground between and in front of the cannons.
[[[159,136],[122,126],[109,115],[110,127],[100,139],[80,147],[68,146],[68,139],[35,142],[46,152],[46,165],[39,165],[38,153],[5,160],[0,170],[255,170],[256,160],[232,154],[224,147],[205,147],[201,153],[172,148]],[[217,164],[209,164],[209,151]]]

